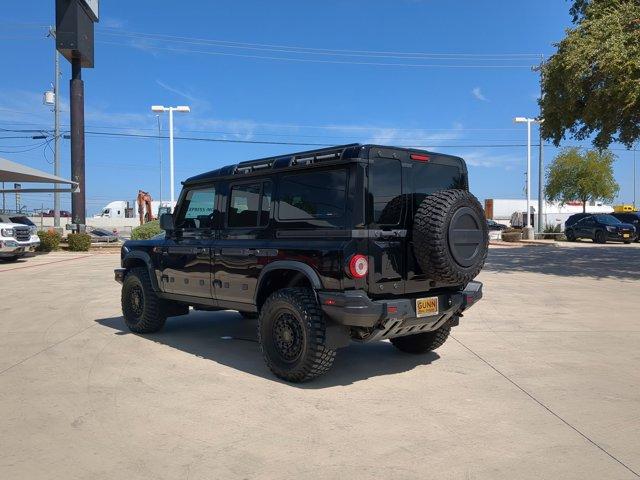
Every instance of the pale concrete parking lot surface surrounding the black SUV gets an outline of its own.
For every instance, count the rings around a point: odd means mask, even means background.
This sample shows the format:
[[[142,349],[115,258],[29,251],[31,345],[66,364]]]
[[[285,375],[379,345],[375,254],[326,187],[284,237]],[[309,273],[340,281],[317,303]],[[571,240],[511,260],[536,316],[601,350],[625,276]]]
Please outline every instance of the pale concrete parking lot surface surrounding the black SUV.
[[[0,264],[0,478],[638,478],[637,244],[492,248],[442,348],[302,385],[236,312],[129,333],[118,261]]]

